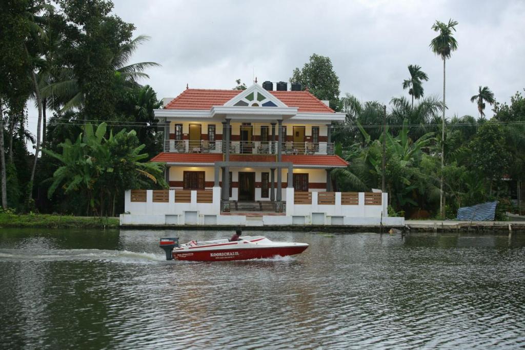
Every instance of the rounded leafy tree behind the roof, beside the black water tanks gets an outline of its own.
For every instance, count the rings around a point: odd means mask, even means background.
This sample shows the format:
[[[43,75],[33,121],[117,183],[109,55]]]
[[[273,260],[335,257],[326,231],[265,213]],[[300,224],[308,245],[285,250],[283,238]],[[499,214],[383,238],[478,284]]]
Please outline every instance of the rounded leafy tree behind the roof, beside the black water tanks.
[[[313,54],[304,66],[293,70],[290,82],[299,82],[320,100],[329,100],[330,108],[338,111],[339,78],[329,57]]]

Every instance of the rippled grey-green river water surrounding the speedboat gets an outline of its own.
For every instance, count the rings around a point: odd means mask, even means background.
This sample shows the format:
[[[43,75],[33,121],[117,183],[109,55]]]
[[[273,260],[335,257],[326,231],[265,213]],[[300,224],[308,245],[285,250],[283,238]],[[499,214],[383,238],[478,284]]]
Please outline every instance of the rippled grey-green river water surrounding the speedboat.
[[[0,229],[0,348],[519,348],[525,233],[250,232],[296,257],[165,261],[163,236]]]

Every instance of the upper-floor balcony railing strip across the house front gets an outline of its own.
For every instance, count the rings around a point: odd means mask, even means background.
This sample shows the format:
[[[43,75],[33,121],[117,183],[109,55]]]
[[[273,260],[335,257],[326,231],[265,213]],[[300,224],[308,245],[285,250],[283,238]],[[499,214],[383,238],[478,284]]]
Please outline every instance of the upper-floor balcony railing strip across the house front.
[[[230,141],[230,154],[276,155],[277,141]],[[224,153],[226,141],[169,140],[164,142],[164,152],[175,153]],[[281,153],[286,155],[333,155],[333,143],[291,142],[282,144]]]

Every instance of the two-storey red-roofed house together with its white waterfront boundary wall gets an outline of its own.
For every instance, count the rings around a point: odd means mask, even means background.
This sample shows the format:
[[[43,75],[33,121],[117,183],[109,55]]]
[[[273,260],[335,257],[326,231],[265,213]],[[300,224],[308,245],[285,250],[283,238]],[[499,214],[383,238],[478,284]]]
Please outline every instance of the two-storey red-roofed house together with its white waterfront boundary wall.
[[[386,193],[335,192],[336,113],[298,84],[186,89],[155,117],[164,125],[169,189],[130,189],[121,225],[401,225]],[[258,213],[256,213],[257,211]]]

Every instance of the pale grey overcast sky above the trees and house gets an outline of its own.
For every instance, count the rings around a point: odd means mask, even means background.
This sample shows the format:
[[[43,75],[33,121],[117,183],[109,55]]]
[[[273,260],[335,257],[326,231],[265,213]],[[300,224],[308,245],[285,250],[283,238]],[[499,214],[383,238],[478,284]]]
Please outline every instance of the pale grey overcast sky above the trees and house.
[[[488,86],[497,101],[525,88],[525,1],[138,1],[114,0],[114,13],[151,40],[132,62],[159,98],[186,87],[231,89],[288,81],[312,54],[328,56],[345,93],[381,103],[407,96],[407,66],[428,74],[425,96],[443,95],[443,61],[429,49],[436,19],[459,22],[459,48],[447,60],[447,116],[470,114],[470,97]],[[31,113],[31,112],[30,112]],[[487,117],[492,116],[489,106]],[[36,114],[35,114],[36,115]],[[36,120],[29,118],[31,130]]]

